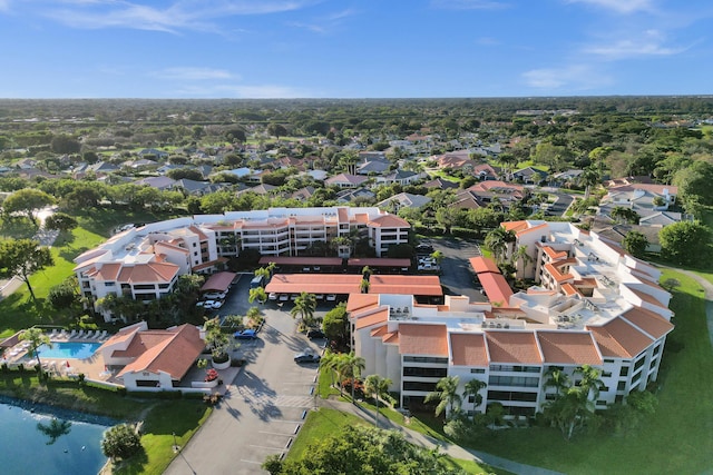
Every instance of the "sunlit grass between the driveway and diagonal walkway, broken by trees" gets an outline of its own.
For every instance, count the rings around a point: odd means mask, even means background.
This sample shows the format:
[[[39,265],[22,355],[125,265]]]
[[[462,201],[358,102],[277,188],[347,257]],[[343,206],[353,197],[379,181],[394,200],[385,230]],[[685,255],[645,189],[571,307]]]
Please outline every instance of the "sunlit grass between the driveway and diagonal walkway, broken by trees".
[[[310,444],[316,441],[323,441],[331,435],[338,434],[346,426],[367,425],[368,423],[351,414],[342,413],[339,410],[330,409],[326,407],[320,408],[318,412],[310,412],[307,419],[302,426],[297,438],[286,456],[286,459],[300,459],[306,453]],[[490,467],[480,466],[472,461],[461,461],[443,456],[443,464],[448,467],[461,467],[467,473],[498,473],[506,474],[507,472],[497,472]]]

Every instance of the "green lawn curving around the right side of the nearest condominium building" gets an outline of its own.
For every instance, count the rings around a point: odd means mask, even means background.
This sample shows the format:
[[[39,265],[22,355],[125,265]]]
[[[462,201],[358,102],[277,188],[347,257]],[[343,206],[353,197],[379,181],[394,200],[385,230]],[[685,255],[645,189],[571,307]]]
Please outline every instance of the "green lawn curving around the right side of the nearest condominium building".
[[[713,279],[711,274],[705,276]],[[713,466],[713,352],[706,329],[702,288],[676,278],[671,308],[676,328],[668,336],[658,377],[656,414],[627,437],[604,432],[565,442],[556,429],[500,431],[472,447],[505,458],[567,474],[704,473]],[[440,429],[440,425],[433,426]]]

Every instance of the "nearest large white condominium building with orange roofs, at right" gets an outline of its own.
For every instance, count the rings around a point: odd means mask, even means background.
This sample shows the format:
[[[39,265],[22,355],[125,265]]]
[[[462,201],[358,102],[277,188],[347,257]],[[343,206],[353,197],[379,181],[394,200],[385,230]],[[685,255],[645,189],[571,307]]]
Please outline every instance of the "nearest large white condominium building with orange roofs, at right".
[[[568,222],[505,222],[516,241],[517,273],[533,278],[522,291],[504,289],[497,266],[473,261],[490,301],[446,296],[445,305],[404,295],[352,295],[348,311],[364,374],[389,377],[402,407],[416,407],[445,376],[487,384],[482,403],[501,403],[510,416],[531,416],[555,397],[548,372],[576,384],[576,369],[600,369],[596,408],[623,400],[656,380],[666,335],[673,329],[671,295],[661,273],[595,232]],[[497,301],[496,301],[497,300]]]

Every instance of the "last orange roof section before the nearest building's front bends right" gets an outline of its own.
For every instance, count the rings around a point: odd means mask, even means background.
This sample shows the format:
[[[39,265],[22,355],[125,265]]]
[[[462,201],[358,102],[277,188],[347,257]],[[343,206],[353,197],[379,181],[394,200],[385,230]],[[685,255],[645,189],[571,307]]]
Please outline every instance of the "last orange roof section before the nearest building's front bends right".
[[[537,331],[545,363],[561,365],[600,365],[602,357],[589,333]]]

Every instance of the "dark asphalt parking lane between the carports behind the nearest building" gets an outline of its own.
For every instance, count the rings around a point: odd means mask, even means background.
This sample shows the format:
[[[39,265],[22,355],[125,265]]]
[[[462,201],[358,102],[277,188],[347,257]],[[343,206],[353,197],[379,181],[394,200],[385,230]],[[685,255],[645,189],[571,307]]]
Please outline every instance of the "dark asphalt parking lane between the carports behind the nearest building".
[[[447,295],[467,295],[470,301],[487,301],[475,286],[475,275],[468,260],[480,256],[480,247],[475,240],[446,237],[424,238],[421,243],[430,244],[433,250],[443,254],[440,278]]]

